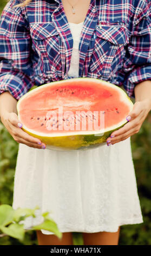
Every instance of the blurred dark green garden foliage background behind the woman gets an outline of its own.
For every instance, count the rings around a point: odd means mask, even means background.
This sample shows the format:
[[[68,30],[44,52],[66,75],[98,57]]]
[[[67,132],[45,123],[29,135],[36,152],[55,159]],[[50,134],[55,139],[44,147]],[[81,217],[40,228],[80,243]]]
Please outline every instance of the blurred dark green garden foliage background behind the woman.
[[[1,0],[0,13],[6,0]],[[0,204],[12,204],[15,164],[18,144],[12,139],[2,123],[0,123]],[[122,225],[120,245],[151,245],[151,113],[143,123],[139,133],[132,137],[133,161],[140,197],[143,223]],[[74,234],[77,240],[81,236]],[[23,243],[5,236],[0,245],[36,245],[36,233],[30,231],[25,235]]]

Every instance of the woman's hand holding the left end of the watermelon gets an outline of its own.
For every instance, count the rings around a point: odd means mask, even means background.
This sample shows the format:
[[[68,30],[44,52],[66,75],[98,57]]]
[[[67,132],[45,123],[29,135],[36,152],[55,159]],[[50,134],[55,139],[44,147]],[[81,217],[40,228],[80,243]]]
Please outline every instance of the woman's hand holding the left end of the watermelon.
[[[16,142],[23,143],[31,148],[45,149],[45,144],[41,143],[40,139],[28,135],[28,133],[21,129],[22,124],[18,120],[16,113],[7,112],[1,115],[1,120]]]

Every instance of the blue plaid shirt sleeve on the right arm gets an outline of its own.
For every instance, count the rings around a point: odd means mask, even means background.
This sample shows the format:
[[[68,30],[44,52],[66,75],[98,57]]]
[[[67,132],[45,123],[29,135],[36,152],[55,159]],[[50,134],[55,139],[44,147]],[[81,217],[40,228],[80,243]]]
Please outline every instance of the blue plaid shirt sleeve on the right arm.
[[[151,80],[151,1],[141,0],[135,9],[123,68],[126,72],[123,86],[129,96],[135,97],[136,84]]]

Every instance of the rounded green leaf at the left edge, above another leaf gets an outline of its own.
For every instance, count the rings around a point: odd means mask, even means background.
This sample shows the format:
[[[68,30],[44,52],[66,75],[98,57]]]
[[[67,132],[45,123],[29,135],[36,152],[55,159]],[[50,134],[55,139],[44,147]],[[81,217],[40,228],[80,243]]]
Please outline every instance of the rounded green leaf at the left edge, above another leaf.
[[[0,205],[0,225],[8,225],[13,221],[14,209],[8,204]]]

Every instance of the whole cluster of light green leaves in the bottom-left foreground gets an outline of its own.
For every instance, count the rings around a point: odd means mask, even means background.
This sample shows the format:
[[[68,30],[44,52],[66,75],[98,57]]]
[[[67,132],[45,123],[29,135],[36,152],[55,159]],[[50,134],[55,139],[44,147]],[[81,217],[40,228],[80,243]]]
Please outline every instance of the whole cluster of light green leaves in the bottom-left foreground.
[[[0,234],[0,237],[9,235],[23,241],[25,229],[22,221],[29,216],[35,218],[35,211],[37,209],[39,209],[38,206],[35,209],[18,208],[14,210],[10,205],[0,205],[0,231],[3,233]],[[58,238],[61,238],[62,233],[58,230],[56,223],[49,217],[49,212],[44,212],[42,216],[43,222],[32,227],[32,230],[48,230],[53,232]]]

